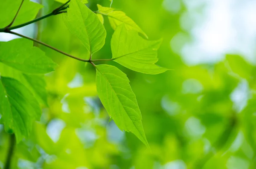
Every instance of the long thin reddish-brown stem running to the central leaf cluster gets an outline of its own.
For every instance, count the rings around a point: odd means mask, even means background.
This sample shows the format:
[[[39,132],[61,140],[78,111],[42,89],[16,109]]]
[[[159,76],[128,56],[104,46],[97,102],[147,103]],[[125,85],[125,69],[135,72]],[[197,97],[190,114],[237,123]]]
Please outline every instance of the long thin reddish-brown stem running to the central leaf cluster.
[[[66,56],[68,56],[68,57],[71,57],[71,58],[73,58],[73,59],[80,60],[80,61],[82,61],[82,62],[90,62],[90,60],[85,60],[85,59],[81,59],[81,58],[79,58],[79,57],[72,56],[72,55],[67,54],[67,53],[65,53],[65,52],[62,52],[61,50],[58,50],[58,49],[56,49],[56,48],[54,48],[54,47],[52,47],[52,46],[49,46],[48,44],[46,44],[46,43],[44,43],[44,42],[41,42],[41,41],[36,40],[36,39],[33,39],[33,38],[31,38],[31,37],[24,36],[23,34],[18,34],[18,33],[16,33],[16,32],[12,32],[12,31],[6,31],[6,33],[15,34],[15,35],[17,35],[17,36],[24,37],[24,38],[26,38],[26,39],[32,40],[32,41],[34,41],[34,42],[36,42],[36,43],[39,43],[39,44],[41,44],[41,45],[44,45],[44,46],[46,46],[46,47],[48,47],[48,48],[50,48],[50,49],[55,50],[56,52],[59,52],[59,53],[61,53],[61,54],[64,54],[64,55],[66,55]]]

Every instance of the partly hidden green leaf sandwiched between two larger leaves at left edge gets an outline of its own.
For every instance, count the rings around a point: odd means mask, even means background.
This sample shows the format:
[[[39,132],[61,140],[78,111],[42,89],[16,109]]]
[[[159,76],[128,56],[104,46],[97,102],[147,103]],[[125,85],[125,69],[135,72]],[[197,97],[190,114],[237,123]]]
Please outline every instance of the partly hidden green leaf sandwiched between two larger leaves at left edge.
[[[48,105],[44,75],[25,74],[3,63],[0,63],[0,74],[18,80],[32,92],[38,102]]]

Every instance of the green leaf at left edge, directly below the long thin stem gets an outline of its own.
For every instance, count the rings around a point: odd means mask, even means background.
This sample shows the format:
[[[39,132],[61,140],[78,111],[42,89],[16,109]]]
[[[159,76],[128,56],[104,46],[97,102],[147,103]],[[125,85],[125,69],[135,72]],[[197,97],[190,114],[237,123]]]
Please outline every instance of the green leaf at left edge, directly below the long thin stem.
[[[45,74],[54,71],[56,63],[24,38],[0,42],[0,62],[29,74]]]

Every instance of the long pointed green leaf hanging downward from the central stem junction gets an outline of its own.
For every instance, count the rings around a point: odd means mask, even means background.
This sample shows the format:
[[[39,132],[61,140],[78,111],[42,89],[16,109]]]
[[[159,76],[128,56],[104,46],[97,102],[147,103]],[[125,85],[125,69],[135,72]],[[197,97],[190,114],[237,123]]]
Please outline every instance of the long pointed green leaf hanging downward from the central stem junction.
[[[132,132],[146,146],[142,116],[129,79],[115,66],[96,66],[96,87],[100,100],[120,130]]]

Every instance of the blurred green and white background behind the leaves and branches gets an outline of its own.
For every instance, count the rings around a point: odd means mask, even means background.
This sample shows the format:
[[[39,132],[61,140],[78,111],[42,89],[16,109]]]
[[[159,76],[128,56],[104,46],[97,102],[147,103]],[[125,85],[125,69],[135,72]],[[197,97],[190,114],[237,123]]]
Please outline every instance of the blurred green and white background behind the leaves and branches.
[[[54,0],[38,16],[60,6]],[[110,6],[109,0],[89,0]],[[108,117],[96,93],[93,66],[44,46],[58,68],[46,75],[48,105],[29,139],[15,149],[17,169],[255,169],[256,1],[113,0],[148,35],[163,38],[163,74],[133,72],[131,80],[143,116],[147,149]],[[111,58],[113,30],[105,18],[105,46],[94,59]],[[15,30],[84,58],[85,49],[52,16]],[[0,41],[17,38],[0,33]],[[104,63],[104,62],[102,62]],[[9,135],[0,126],[0,168]]]

